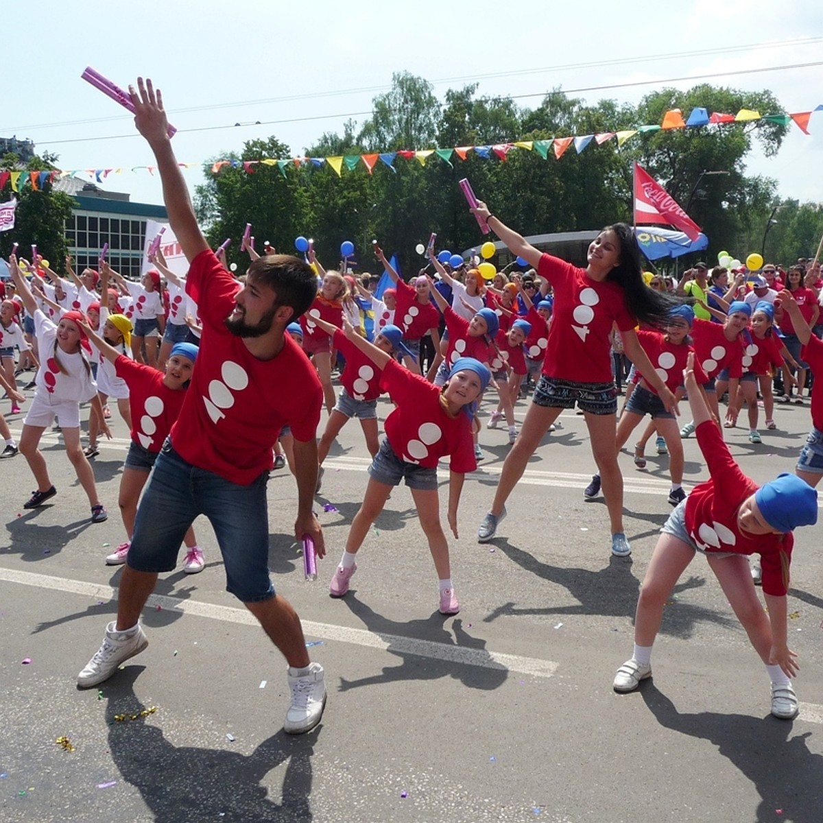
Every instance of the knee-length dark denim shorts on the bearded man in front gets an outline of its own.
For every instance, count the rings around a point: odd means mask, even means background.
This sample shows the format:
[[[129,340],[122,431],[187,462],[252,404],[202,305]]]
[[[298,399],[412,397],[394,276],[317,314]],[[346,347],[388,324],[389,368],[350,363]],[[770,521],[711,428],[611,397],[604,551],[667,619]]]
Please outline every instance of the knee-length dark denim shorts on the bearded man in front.
[[[274,597],[268,573],[268,506],[263,472],[248,486],[187,463],[166,439],[137,509],[128,565],[166,572],[177,565],[188,527],[204,514],[226,568],[226,591],[244,603]]]

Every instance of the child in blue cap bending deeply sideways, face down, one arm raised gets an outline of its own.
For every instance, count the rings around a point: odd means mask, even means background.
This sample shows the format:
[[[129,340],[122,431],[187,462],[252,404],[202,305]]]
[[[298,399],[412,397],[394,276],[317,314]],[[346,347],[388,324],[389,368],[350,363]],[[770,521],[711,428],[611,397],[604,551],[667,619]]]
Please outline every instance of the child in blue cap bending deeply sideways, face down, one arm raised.
[[[635,690],[651,676],[652,644],[663,607],[695,552],[706,556],[723,593],[765,663],[771,681],[771,714],[791,719],[797,696],[789,678],[797,674],[788,648],[788,568],[793,529],[817,521],[817,493],[800,477],[781,474],[758,488],[734,462],[695,378],[695,356],[686,365],[686,392],[695,434],[710,479],[691,491],[661,529],[635,614],[635,650],[618,670],[614,689]],[[760,555],[768,615],[758,600],[747,557]]]

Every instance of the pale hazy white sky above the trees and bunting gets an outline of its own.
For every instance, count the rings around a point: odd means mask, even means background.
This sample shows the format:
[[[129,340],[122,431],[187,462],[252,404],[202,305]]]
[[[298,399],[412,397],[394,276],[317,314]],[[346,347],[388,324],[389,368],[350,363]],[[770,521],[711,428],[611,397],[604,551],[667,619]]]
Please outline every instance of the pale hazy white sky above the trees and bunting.
[[[109,175],[104,188],[131,193],[139,202],[162,202],[158,179],[145,170],[131,172],[133,166],[151,165],[151,152],[134,132],[128,112],[81,80],[86,65],[122,87],[138,74],[152,77],[164,92],[171,123],[180,130],[229,127],[174,137],[178,160],[194,163],[271,135],[302,155],[323,132],[342,133],[348,116],[369,111],[374,95],[388,89],[393,72],[402,71],[435,83],[441,99],[447,89],[477,79],[478,95],[535,95],[517,100],[528,108],[555,86],[574,90],[704,74],[714,75],[708,80],[714,85],[770,89],[788,112],[823,104],[823,66],[723,74],[823,61],[823,40],[796,44],[823,37],[820,0],[698,0],[642,7],[602,0],[441,0],[374,3],[357,10],[351,4],[345,13],[344,5],[328,0],[142,0],[109,7],[95,3],[93,12],[79,12],[77,4],[65,0],[36,5],[38,30],[26,35],[29,45],[17,51],[26,57],[6,63],[12,73],[3,84],[0,136],[30,138],[38,151],[57,153],[63,169],[122,167],[127,171]],[[737,50],[785,41],[779,47]],[[694,53],[705,49],[724,51]],[[682,56],[584,66],[661,54]],[[503,72],[508,76],[488,77]],[[666,85],[688,88],[697,82]],[[574,96],[636,102],[661,87]],[[260,102],[241,105],[255,100]],[[194,107],[202,108],[181,111]],[[354,119],[362,123],[366,116]],[[291,122],[234,126],[257,120]],[[812,115],[810,130],[807,137],[792,125],[779,155],[770,160],[751,156],[750,169],[777,179],[781,196],[821,202],[823,111]],[[115,135],[130,136],[111,139]],[[589,146],[588,151],[614,147]],[[202,175],[192,169],[187,179],[193,188]]]

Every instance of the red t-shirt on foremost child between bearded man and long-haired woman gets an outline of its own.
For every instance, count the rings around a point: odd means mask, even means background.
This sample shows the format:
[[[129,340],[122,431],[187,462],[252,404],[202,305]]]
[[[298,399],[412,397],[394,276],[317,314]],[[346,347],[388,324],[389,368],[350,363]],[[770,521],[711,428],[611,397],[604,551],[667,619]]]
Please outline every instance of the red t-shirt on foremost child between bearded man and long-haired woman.
[[[380,386],[397,404],[386,418],[385,429],[398,458],[435,468],[439,458],[450,454],[453,472],[464,474],[477,468],[471,421],[462,411],[456,417],[445,411],[437,386],[396,360],[386,364]]]

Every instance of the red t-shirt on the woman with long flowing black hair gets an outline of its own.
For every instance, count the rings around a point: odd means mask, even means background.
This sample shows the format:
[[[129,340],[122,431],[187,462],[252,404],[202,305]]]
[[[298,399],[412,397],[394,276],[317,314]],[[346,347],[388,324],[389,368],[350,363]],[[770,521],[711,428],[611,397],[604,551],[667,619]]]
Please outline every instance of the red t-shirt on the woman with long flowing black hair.
[[[591,280],[585,270],[542,254],[537,273],[551,283],[555,305],[543,374],[577,383],[611,382],[611,324],[621,332],[637,321],[621,286]]]

